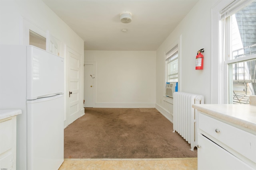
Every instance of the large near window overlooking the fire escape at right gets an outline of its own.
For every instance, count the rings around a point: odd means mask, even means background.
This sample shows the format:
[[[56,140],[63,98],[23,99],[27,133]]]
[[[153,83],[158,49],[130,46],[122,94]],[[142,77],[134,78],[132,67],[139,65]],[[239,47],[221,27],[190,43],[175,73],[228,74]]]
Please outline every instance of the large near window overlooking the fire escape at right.
[[[249,104],[256,94],[256,1],[236,0],[221,11],[228,103]]]

